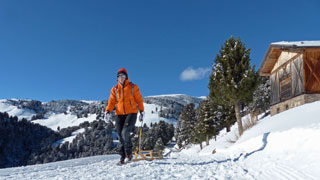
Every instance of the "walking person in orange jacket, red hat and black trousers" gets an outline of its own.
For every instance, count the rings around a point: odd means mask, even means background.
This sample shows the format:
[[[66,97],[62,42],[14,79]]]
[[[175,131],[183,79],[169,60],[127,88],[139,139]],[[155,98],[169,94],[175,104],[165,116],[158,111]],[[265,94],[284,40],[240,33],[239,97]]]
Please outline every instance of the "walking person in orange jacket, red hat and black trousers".
[[[116,106],[116,130],[119,138],[120,164],[132,160],[132,142],[130,133],[135,127],[138,110],[139,120],[143,121],[144,107],[140,90],[136,84],[129,81],[128,72],[121,68],[117,73],[118,83],[111,88],[108,106],[105,110],[105,120],[110,121],[111,112]]]

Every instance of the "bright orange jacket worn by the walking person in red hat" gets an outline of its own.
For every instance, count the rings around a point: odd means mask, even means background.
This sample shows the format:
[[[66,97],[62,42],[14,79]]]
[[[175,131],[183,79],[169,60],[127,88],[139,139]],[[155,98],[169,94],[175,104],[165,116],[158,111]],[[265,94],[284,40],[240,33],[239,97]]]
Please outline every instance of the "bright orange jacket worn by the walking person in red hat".
[[[115,87],[117,90],[117,97]],[[116,106],[116,115],[138,113],[138,108],[140,112],[144,111],[143,99],[139,87],[136,84],[132,84],[129,82],[129,79],[126,79],[124,86],[118,83],[115,87],[111,88],[108,106],[105,111],[112,112],[114,106]]]

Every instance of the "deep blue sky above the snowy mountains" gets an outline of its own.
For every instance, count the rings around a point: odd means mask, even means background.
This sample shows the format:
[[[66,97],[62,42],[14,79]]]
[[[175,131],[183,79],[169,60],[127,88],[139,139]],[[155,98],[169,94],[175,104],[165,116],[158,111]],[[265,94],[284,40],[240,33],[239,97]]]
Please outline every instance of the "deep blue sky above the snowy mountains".
[[[224,41],[320,40],[320,2],[0,0],[0,99],[103,100],[125,67],[143,96],[208,95]]]

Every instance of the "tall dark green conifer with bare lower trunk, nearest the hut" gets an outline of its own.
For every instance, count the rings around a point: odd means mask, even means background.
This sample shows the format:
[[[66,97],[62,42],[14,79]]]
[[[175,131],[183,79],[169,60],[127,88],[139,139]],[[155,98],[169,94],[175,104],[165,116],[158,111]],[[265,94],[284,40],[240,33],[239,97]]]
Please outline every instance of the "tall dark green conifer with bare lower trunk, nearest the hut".
[[[231,37],[219,50],[210,75],[210,98],[224,106],[234,106],[239,135],[243,133],[240,105],[249,103],[256,87],[255,66],[250,66],[250,49],[240,38]]]

